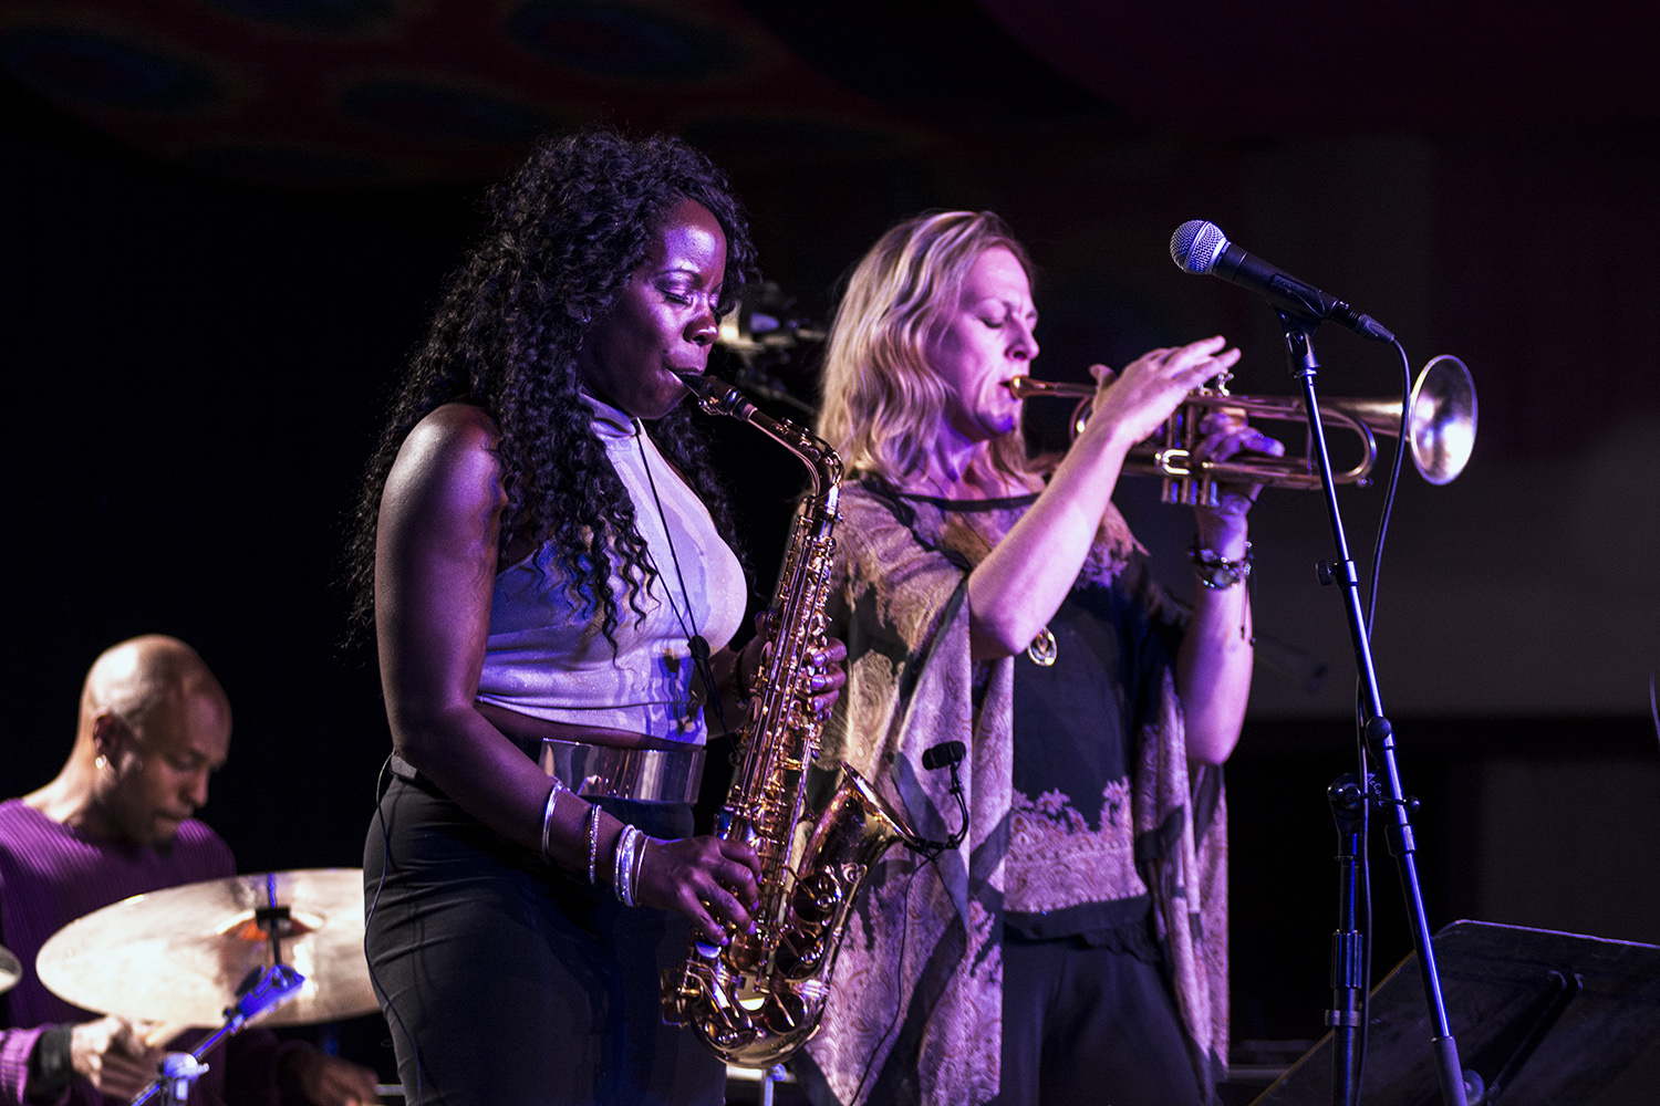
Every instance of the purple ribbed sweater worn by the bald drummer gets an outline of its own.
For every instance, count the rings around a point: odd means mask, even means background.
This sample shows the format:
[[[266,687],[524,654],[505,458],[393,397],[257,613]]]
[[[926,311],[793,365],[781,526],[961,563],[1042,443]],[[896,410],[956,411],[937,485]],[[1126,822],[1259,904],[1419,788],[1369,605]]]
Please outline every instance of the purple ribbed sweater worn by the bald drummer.
[[[23,978],[0,995],[0,1104],[25,1101],[28,1055],[46,1026],[100,1016],[63,1002],[35,977],[35,955],[48,937],[129,895],[234,874],[229,846],[196,819],[179,826],[169,847],[151,849],[83,837],[20,799],[0,803],[0,943],[23,963]],[[209,1071],[196,1083],[191,1103],[276,1104],[277,1060],[290,1048],[269,1030],[239,1033],[208,1056]],[[58,1101],[105,1106],[120,1099],[105,1099],[78,1078]]]

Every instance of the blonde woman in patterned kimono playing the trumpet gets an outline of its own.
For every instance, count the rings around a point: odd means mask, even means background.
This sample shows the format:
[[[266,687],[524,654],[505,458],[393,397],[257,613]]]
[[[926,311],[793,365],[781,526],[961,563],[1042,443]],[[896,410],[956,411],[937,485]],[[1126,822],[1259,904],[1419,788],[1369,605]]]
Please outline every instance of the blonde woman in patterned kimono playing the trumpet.
[[[1185,633],[1111,496],[1238,352],[1097,366],[1094,416],[1038,473],[1008,386],[1038,357],[1029,270],[994,214],[921,216],[865,255],[830,333],[818,433],[852,479],[827,756],[945,837],[958,806],[923,753],[963,740],[968,832],[873,874],[803,1065],[822,1103],[1202,1103],[1227,1055],[1213,766],[1250,688],[1257,488],[1197,509]],[[1283,448],[1210,415],[1197,459],[1242,451]]]

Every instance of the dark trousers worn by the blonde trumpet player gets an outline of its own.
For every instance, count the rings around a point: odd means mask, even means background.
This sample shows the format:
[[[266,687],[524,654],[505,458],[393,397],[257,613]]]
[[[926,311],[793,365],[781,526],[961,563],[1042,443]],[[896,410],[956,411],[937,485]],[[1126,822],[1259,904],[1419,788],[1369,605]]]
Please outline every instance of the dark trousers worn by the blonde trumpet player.
[[[1076,940],[1003,942],[996,1106],[1205,1101],[1162,972]]]

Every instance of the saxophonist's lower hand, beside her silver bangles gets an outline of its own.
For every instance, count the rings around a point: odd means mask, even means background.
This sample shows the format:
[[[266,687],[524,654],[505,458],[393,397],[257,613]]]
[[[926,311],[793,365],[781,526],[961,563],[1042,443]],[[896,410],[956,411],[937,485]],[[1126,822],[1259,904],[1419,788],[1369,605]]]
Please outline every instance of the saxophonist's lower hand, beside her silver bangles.
[[[647,841],[639,866],[639,890],[634,900],[642,907],[679,910],[692,919],[692,934],[724,945],[725,922],[740,930],[750,927],[749,912],[760,895],[760,861],[755,851],[720,837],[681,837]]]

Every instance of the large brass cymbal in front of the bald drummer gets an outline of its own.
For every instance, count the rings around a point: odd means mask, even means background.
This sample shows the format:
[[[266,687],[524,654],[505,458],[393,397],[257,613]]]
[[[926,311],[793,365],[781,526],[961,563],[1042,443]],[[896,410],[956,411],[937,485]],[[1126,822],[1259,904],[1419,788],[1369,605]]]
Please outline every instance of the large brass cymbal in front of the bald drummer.
[[[266,912],[272,894],[286,919]],[[53,934],[35,972],[83,1010],[216,1028],[249,970],[271,967],[274,927],[282,962],[305,983],[261,1023],[378,1010],[364,960],[364,872],[355,867],[229,876],[133,895]]]

